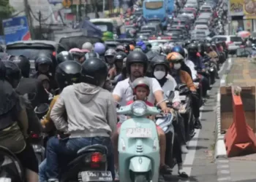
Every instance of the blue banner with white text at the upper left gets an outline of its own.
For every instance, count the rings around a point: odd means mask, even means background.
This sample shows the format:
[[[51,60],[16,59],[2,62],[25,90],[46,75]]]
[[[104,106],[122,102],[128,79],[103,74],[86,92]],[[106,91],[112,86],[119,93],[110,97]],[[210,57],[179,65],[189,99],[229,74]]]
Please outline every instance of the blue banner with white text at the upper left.
[[[3,20],[3,28],[6,44],[12,41],[26,41],[31,39],[26,16]]]

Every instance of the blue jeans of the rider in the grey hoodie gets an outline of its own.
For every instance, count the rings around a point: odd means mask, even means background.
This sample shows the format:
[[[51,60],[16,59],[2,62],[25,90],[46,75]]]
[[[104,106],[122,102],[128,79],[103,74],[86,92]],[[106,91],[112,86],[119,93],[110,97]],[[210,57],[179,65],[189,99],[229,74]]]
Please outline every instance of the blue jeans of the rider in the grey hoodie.
[[[46,174],[48,178],[60,179],[59,172],[61,167],[67,166],[68,162],[75,159],[78,150],[94,144],[101,144],[108,148],[108,170],[111,171],[113,178],[115,178],[113,146],[111,139],[108,137],[67,138],[64,140],[57,137],[50,138],[46,148]]]

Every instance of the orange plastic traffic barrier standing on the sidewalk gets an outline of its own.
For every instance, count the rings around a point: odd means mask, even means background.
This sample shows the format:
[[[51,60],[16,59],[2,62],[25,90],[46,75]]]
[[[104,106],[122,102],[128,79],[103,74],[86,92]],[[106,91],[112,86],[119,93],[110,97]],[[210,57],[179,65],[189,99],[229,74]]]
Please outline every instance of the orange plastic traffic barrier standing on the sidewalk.
[[[225,135],[227,157],[236,157],[256,152],[256,137],[252,128],[246,123],[244,107],[240,94],[233,95],[233,123]]]

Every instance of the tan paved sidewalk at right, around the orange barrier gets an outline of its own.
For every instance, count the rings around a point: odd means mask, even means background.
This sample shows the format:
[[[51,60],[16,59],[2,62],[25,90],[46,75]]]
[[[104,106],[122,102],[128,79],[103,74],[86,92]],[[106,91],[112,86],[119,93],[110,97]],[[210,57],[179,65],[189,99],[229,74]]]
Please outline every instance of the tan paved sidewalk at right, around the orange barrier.
[[[230,69],[227,70],[226,76],[222,77],[221,82],[222,86],[256,86],[256,63],[249,61],[248,58],[233,58],[231,60]],[[217,143],[223,140],[223,138],[224,135],[218,133]],[[222,148],[221,150],[223,150],[223,147],[225,150],[223,144],[217,144],[217,148]],[[256,181],[256,154],[232,158],[227,158],[227,156],[221,155],[217,158],[216,163],[218,169],[218,181]]]

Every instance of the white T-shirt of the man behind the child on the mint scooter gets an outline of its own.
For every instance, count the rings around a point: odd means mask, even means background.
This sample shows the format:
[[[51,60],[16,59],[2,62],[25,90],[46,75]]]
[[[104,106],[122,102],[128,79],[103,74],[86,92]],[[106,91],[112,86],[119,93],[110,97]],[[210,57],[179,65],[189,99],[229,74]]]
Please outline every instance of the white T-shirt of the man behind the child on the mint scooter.
[[[162,91],[162,88],[159,82],[157,82],[157,79],[149,78],[146,76],[144,78],[148,79],[150,83],[150,92],[148,95],[148,102],[154,104],[155,102],[154,92],[157,92],[158,90]],[[124,79],[123,81],[118,82],[116,84],[116,87],[113,90],[113,95],[118,95],[121,98],[121,101],[119,103],[120,106],[126,106],[127,102],[133,99],[134,95],[132,90],[132,83],[129,82],[129,78]]]

